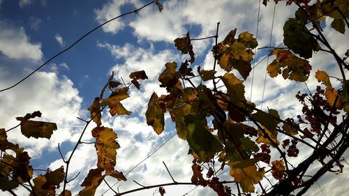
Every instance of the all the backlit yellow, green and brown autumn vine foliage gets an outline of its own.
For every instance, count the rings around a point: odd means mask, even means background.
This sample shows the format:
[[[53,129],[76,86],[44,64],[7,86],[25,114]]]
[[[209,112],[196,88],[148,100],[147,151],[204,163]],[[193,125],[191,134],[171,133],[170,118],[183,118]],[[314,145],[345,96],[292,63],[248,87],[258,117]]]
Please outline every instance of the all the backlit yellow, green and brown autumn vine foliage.
[[[154,2],[161,11],[161,3]],[[265,0],[263,4],[267,6],[268,2]],[[287,119],[281,119],[279,112],[272,108],[266,111],[258,109],[245,97],[244,82],[250,77],[253,50],[258,46],[253,34],[243,32],[237,35],[237,29],[232,29],[221,43],[212,47],[215,61],[209,70],[195,64],[189,32],[174,40],[174,46],[187,59],[180,63],[165,63],[158,82],[167,93],[151,95],[145,117],[147,124],[160,135],[166,126],[164,115],[170,114],[178,137],[188,142],[189,153],[193,156],[193,165],[187,165],[193,170],[192,184],[208,186],[220,196],[232,195],[231,188],[217,175],[219,170],[228,167],[231,179],[238,186],[238,195],[255,193],[255,186],[262,189],[260,195],[290,195],[293,190],[302,195],[322,174],[342,171],[341,156],[349,146],[349,82],[344,73],[344,70],[349,70],[346,63],[349,52],[346,56],[339,56],[322,34],[321,24],[325,18],[329,18],[333,20],[331,26],[336,31],[345,33],[346,25],[349,25],[349,2],[325,0],[311,5],[309,2],[287,1],[288,5],[295,4],[299,8],[295,17],[283,26],[286,48],[275,48],[269,52],[269,56],[275,56],[275,59],[267,66],[267,73],[270,77],[281,75],[285,80],[305,82],[311,70],[317,70],[316,65],[311,65],[307,59],[313,56],[313,52],[322,51],[332,54],[342,78],[336,78],[340,85],[335,86],[332,84],[333,77],[324,70],[316,71],[315,78],[319,84],[315,92],[295,95],[302,105],[302,114],[288,116]],[[217,34],[212,37],[218,39],[218,26]],[[198,68],[194,70],[194,66]],[[217,66],[225,73],[218,74]],[[192,81],[194,77],[200,78],[200,84]],[[85,122],[96,123],[91,135],[95,138],[98,162],[96,169],[91,169],[81,184],[83,189],[79,195],[94,195],[105,176],[126,181],[124,174],[115,169],[117,149],[120,147],[117,133],[103,126],[101,111],[107,109],[111,116],[131,114],[121,100],[130,98],[130,88],[142,88],[142,80],[147,78],[147,74],[140,70],[131,73],[130,82],[125,84],[114,80],[113,73],[100,96],[89,107],[91,116]],[[53,131],[59,131],[55,123],[31,120],[40,116],[40,112],[34,112],[17,117],[23,135],[50,139]],[[64,160],[65,167],[33,176],[28,153],[18,144],[7,140],[7,131],[0,129],[0,149],[3,152],[0,163],[1,190],[13,192],[21,184],[29,184],[28,195],[71,195],[66,190],[71,157]],[[289,160],[302,153],[297,147],[299,143],[309,146],[313,153],[299,165],[291,167]],[[279,158],[271,160],[273,153],[279,154]],[[322,167],[311,178],[304,178],[309,166],[317,161]],[[214,164],[220,167],[218,171],[213,169]],[[207,171],[203,165],[209,165]],[[268,173],[279,183],[266,190],[260,181]],[[64,190],[56,193],[62,183]],[[176,183],[174,181],[173,184]],[[165,195],[163,186],[158,186],[158,190]]]

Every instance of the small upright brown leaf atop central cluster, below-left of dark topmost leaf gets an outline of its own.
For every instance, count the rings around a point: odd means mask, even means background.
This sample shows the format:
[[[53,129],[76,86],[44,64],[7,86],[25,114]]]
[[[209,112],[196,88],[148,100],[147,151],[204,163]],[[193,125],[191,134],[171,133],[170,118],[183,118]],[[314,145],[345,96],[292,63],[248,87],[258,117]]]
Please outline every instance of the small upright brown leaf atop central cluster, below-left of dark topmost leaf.
[[[172,88],[172,86],[176,85],[178,82],[178,77],[177,77],[177,63],[172,62],[172,63],[166,63],[165,64],[165,70],[161,75],[158,77],[158,81],[161,82],[160,87],[166,87],[168,91]]]

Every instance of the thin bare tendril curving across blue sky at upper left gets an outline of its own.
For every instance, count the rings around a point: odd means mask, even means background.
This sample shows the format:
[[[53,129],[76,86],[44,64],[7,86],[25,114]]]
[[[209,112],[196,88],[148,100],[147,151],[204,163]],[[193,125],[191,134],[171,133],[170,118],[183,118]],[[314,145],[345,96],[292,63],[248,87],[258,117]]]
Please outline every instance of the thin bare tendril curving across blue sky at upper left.
[[[147,4],[145,4],[144,6],[142,6],[141,8],[138,8],[137,10],[133,10],[131,12],[128,12],[128,13],[124,13],[124,14],[121,14],[117,17],[113,17],[112,19],[110,20],[107,20],[106,22],[103,22],[103,24],[100,24],[98,25],[98,27],[95,27],[94,29],[92,29],[91,31],[89,31],[88,33],[84,34],[84,36],[81,36],[79,39],[77,39],[75,41],[75,43],[73,43],[72,45],[70,45],[69,47],[67,47],[66,49],[62,50],[61,52],[55,54],[54,56],[52,56],[50,59],[48,59],[47,61],[45,61],[45,63],[43,63],[41,66],[39,66],[38,68],[36,68],[34,71],[32,71],[31,73],[29,73],[29,75],[27,75],[26,77],[24,77],[22,80],[20,80],[19,82],[13,84],[12,86],[9,86],[8,88],[6,89],[1,89],[0,92],[3,92],[3,91],[7,91],[8,89],[12,89],[13,87],[17,86],[18,84],[22,83],[24,80],[27,80],[28,77],[30,77],[31,75],[33,75],[34,73],[36,73],[38,70],[40,70],[41,68],[43,68],[43,66],[47,65],[47,63],[49,63],[50,61],[52,61],[53,59],[55,59],[57,56],[63,54],[64,52],[70,50],[70,48],[72,48],[74,45],[76,45],[77,43],[79,43],[82,39],[84,39],[85,37],[89,36],[89,34],[91,34],[92,32],[96,31],[97,29],[103,27],[105,24],[109,23],[109,22],[112,22],[113,20],[116,20],[117,18],[119,17],[123,17],[125,15],[129,15],[131,13],[139,13],[140,10],[142,10],[142,8],[145,8],[147,6],[149,6],[151,3],[154,3],[155,1],[151,1]]]

